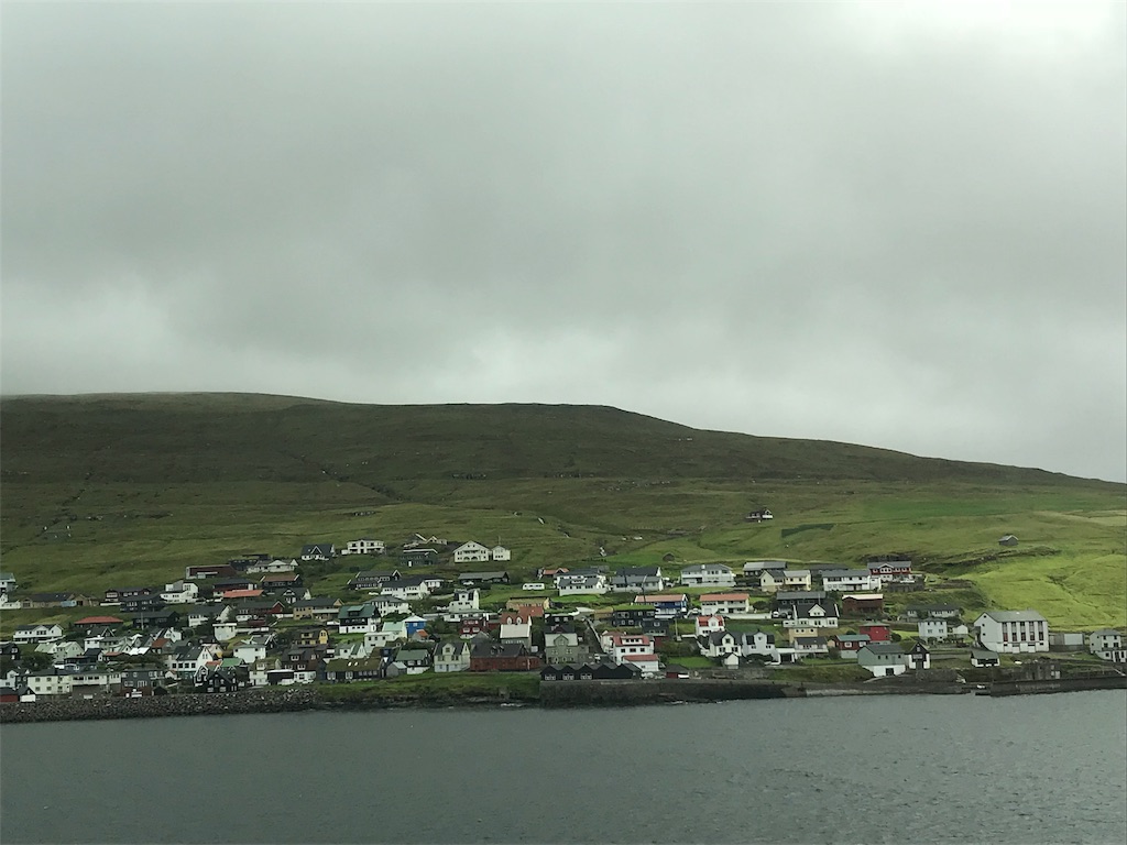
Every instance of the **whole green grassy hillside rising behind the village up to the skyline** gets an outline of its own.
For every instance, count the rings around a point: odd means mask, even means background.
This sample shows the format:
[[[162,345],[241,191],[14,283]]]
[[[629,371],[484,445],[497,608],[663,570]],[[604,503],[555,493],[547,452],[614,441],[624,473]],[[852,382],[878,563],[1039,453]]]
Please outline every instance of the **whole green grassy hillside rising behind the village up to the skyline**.
[[[971,608],[1127,624],[1121,484],[844,444],[698,432],[610,408],[379,407],[236,394],[0,401],[0,553],[27,590],[412,532],[512,569],[908,554]],[[743,515],[770,507],[773,523]],[[1017,534],[1021,544],[1000,549]],[[337,589],[369,561],[320,575]],[[39,614],[42,615],[42,613]]]

